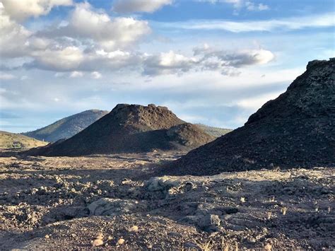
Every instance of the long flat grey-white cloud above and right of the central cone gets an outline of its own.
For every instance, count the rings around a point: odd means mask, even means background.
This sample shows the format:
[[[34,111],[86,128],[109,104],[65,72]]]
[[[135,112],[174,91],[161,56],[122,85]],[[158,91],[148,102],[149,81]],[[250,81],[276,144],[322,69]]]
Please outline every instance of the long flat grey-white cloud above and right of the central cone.
[[[173,51],[146,56],[143,59],[143,74],[182,74],[191,70],[205,70],[237,76],[242,67],[267,64],[273,59],[274,54],[266,49],[226,51],[205,44],[204,47],[194,48],[194,57],[186,57]]]

